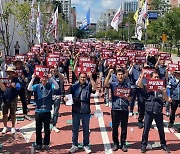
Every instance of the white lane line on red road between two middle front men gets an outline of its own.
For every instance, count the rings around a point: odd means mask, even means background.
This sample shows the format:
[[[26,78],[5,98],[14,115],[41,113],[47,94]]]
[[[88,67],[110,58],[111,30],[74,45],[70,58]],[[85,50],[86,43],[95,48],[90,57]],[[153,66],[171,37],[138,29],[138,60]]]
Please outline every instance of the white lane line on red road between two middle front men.
[[[101,111],[101,107],[98,104],[99,100],[97,98],[97,94],[98,93],[93,95],[94,96],[94,102],[95,102],[96,110],[99,109]],[[109,137],[108,137],[108,134],[107,134],[107,131],[106,131],[106,127],[105,127],[105,124],[104,124],[103,116],[98,117],[98,122],[99,122],[99,127],[100,127],[100,130],[101,130],[101,136],[102,136],[102,140],[103,140],[103,144],[104,144],[105,154],[112,154],[112,149],[111,149],[111,145],[110,145],[110,142],[109,142]]]

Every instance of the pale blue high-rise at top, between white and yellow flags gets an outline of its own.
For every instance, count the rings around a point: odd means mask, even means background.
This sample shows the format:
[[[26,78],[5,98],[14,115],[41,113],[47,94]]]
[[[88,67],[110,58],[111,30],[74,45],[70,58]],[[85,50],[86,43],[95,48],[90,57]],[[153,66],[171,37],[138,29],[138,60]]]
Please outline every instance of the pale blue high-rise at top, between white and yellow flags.
[[[123,3],[123,9],[125,13],[128,12],[136,12],[138,7],[138,1],[132,1],[132,2],[124,2]]]

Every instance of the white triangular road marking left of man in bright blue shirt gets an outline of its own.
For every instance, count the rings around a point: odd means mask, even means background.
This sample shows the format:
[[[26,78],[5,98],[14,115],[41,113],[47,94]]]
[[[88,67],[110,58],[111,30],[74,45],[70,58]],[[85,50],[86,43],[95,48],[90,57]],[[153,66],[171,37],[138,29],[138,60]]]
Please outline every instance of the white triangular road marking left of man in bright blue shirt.
[[[27,124],[19,129],[27,143],[29,143],[31,136],[35,132],[35,129],[36,129],[35,121],[33,121],[32,123]]]

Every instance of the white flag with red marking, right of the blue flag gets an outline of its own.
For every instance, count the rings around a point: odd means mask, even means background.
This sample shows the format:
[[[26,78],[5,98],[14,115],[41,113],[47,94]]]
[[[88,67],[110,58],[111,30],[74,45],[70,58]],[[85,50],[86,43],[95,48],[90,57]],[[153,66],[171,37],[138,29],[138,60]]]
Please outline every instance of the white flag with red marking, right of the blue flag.
[[[111,26],[117,31],[119,24],[123,21],[123,14],[124,11],[122,10],[122,5],[121,5],[111,21]]]

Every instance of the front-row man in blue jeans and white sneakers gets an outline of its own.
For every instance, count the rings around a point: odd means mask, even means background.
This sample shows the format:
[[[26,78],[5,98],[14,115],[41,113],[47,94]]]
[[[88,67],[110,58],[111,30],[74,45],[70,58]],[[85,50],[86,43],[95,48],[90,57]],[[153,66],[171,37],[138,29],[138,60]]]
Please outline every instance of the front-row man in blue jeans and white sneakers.
[[[89,77],[90,82],[87,78]],[[78,150],[78,132],[80,120],[83,126],[83,146],[86,153],[91,153],[89,147],[89,122],[90,122],[90,95],[96,91],[96,83],[92,78],[92,73],[80,73],[78,82],[73,84],[67,91],[67,94],[72,94],[72,147],[69,152],[74,153]],[[67,98],[64,98],[67,101]]]

